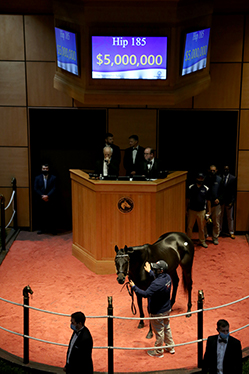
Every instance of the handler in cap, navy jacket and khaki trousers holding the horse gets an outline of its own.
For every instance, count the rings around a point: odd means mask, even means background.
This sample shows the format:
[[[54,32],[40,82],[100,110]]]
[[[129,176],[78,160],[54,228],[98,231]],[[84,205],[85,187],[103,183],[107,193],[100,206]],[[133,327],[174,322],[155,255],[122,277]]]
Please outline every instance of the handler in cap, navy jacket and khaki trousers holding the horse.
[[[151,268],[154,270],[154,273]],[[151,320],[151,326],[156,336],[156,349],[149,350],[147,351],[147,353],[149,356],[161,358],[163,357],[164,343],[166,345],[166,352],[170,352],[171,354],[175,353],[175,349],[173,347],[174,341],[172,338],[168,318],[171,311],[171,278],[169,274],[166,273],[168,264],[163,260],[152,263],[151,265],[146,262],[144,269],[152,277],[155,277],[147,290],[141,290],[134,284],[132,280],[130,281],[130,285],[136,294],[149,299],[149,312],[151,314],[151,317],[157,317],[157,319]]]

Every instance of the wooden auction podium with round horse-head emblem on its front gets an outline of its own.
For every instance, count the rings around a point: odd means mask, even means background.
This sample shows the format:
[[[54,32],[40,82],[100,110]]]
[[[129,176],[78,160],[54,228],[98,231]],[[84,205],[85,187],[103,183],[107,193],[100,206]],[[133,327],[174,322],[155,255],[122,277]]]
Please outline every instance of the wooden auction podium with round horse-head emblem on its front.
[[[73,255],[96,274],[115,273],[115,245],[154,243],[169,231],[185,232],[186,171],[156,181],[89,179],[70,170]]]

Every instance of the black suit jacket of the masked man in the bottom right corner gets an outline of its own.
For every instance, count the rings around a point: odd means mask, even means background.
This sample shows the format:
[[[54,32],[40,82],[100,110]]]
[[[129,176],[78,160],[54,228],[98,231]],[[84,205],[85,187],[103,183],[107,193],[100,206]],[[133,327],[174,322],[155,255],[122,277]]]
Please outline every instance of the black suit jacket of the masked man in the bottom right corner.
[[[202,373],[217,374],[218,335],[208,337]],[[242,374],[242,351],[238,339],[229,336],[223,361],[223,374]]]

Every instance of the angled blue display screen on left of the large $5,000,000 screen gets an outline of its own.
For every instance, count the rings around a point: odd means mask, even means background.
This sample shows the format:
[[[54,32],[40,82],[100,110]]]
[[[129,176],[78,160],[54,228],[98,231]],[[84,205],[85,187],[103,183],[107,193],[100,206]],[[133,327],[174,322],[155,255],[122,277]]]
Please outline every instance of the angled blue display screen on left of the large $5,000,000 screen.
[[[57,66],[79,75],[76,34],[55,27]]]

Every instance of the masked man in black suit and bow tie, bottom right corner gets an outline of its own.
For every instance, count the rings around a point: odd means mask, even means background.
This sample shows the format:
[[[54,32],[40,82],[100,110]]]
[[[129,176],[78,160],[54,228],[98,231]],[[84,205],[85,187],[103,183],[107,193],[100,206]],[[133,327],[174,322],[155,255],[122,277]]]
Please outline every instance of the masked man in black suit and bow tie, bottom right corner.
[[[218,335],[209,336],[204,355],[202,373],[242,374],[242,350],[238,339],[229,335],[229,323],[217,322]]]

